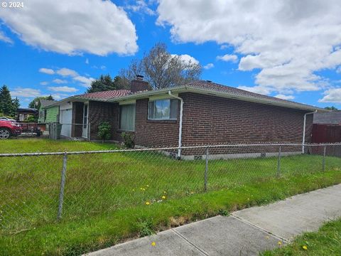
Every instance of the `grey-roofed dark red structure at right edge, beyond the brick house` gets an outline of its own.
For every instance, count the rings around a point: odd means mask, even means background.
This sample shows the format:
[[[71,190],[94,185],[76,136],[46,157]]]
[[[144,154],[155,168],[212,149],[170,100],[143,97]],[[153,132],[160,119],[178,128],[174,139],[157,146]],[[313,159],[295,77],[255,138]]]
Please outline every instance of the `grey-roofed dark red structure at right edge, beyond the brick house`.
[[[341,111],[314,114],[312,142],[341,142]]]

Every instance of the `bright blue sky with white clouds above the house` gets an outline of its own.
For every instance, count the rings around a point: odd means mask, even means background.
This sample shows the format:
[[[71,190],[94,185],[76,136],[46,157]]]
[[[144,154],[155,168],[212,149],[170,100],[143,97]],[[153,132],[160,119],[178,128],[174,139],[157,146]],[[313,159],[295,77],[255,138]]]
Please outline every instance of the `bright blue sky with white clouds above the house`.
[[[0,2],[0,85],[22,107],[82,94],[162,42],[203,80],[341,109],[340,0]]]

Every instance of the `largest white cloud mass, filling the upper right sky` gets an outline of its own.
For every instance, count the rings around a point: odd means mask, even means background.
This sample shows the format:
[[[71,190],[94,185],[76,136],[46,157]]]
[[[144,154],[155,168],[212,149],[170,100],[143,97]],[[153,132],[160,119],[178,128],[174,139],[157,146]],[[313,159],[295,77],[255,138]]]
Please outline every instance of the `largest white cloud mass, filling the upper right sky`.
[[[239,70],[259,69],[257,91],[321,90],[315,72],[341,64],[339,0],[160,0],[157,11],[173,41],[234,47]]]

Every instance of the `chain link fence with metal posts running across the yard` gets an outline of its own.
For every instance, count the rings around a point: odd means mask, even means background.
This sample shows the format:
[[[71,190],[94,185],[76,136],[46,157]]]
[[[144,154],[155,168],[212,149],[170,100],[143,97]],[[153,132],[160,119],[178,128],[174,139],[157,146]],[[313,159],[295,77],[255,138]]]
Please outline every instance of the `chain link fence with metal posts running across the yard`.
[[[0,154],[0,228],[13,233],[60,219],[327,171],[341,171],[341,144]]]

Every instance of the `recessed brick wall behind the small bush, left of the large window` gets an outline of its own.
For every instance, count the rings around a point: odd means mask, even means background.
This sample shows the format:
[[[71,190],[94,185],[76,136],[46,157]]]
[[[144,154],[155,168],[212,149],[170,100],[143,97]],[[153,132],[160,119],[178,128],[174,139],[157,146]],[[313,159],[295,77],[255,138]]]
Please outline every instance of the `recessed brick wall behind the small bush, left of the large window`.
[[[90,122],[90,137],[92,140],[99,140],[98,126],[101,122],[109,122],[112,126],[112,139],[117,139],[118,127],[118,103],[95,102],[89,103],[89,122]]]

